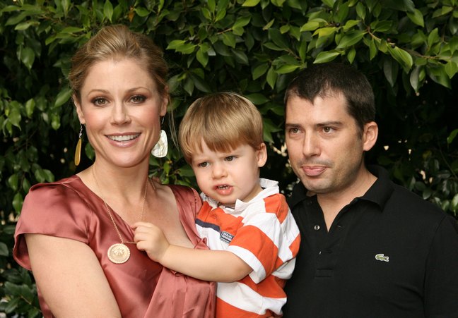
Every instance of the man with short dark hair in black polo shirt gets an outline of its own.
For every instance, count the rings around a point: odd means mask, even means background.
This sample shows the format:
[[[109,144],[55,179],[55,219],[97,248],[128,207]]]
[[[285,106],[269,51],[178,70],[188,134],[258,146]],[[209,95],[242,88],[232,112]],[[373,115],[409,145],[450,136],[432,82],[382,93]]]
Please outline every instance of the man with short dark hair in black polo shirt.
[[[310,66],[285,104],[302,237],[285,317],[458,317],[457,223],[365,166],[378,134],[365,76]]]

